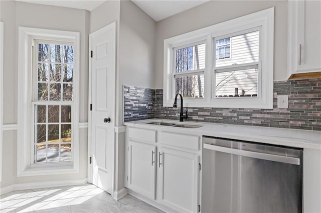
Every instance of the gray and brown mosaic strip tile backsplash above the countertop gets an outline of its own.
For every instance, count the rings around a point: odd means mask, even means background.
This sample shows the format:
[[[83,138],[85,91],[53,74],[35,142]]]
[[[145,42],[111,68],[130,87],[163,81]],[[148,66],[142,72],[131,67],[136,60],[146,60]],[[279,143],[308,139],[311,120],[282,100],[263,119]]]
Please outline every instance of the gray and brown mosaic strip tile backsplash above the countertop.
[[[289,96],[277,108],[277,95]],[[321,130],[321,78],[274,81],[273,109],[189,107],[190,121]],[[179,119],[179,108],[163,106],[163,89],[124,86],[124,121]]]

